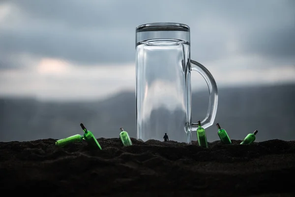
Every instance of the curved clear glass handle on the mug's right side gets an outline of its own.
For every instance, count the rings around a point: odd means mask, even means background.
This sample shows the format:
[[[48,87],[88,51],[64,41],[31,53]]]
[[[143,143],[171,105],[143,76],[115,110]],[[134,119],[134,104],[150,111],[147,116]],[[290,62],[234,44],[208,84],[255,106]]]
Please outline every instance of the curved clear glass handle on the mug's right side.
[[[204,120],[201,121],[201,125],[204,129],[210,127],[213,125],[216,112],[217,112],[217,103],[218,103],[218,91],[217,91],[217,85],[216,82],[212,76],[212,74],[207,70],[207,68],[200,63],[191,60],[191,70],[195,70],[199,72],[204,79],[206,80],[206,83],[209,88],[209,106],[207,115]],[[197,131],[198,124],[192,123],[192,131]]]

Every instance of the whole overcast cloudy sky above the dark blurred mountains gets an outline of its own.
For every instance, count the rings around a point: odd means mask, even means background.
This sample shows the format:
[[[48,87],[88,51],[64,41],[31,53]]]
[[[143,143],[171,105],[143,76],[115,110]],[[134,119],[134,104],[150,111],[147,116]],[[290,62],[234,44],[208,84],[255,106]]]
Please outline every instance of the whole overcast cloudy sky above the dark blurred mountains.
[[[152,22],[190,26],[219,88],[295,83],[295,0],[0,0],[0,96],[134,91],[135,27]]]

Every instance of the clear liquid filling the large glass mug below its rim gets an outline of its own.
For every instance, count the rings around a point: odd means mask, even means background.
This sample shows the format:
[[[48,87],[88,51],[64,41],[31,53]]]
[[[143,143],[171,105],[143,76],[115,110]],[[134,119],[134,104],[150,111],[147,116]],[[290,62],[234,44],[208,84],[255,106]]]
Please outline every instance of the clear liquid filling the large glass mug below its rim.
[[[137,130],[139,139],[187,142],[191,132],[189,43],[179,39],[153,39],[137,46]],[[152,58],[147,58],[152,57]],[[148,93],[148,94],[146,94]],[[144,110],[141,110],[143,108]]]

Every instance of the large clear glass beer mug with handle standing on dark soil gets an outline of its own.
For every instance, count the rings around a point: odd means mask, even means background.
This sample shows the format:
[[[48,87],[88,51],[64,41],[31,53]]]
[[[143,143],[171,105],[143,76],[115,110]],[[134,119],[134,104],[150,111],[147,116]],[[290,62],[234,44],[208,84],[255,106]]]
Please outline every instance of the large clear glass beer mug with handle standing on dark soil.
[[[136,27],[137,139],[191,144],[191,70],[199,72],[209,88],[207,116],[211,126],[217,111],[217,86],[211,73],[190,59],[190,28],[178,23],[150,23]],[[195,103],[197,104],[197,103]],[[196,121],[197,122],[197,121]]]

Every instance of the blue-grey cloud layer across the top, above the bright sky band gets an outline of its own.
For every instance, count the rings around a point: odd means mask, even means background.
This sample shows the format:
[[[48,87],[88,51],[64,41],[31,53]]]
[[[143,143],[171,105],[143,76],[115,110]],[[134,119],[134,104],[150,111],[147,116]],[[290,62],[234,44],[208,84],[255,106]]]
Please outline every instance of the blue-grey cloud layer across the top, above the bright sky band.
[[[294,36],[290,36],[295,34],[292,0],[11,0],[6,3],[18,7],[22,23],[13,29],[0,26],[0,52],[5,52],[0,53],[0,67],[3,62],[11,63],[6,57],[18,53],[61,58],[81,65],[131,62],[135,53],[135,27],[159,21],[190,25],[192,58],[200,61],[233,55],[225,50],[232,33],[238,39],[239,53],[256,53],[278,62],[291,61],[294,57]],[[198,27],[203,21],[207,21],[211,32]],[[9,23],[8,18],[5,24]],[[221,32],[220,23],[228,30]]]

